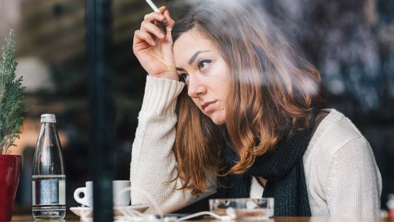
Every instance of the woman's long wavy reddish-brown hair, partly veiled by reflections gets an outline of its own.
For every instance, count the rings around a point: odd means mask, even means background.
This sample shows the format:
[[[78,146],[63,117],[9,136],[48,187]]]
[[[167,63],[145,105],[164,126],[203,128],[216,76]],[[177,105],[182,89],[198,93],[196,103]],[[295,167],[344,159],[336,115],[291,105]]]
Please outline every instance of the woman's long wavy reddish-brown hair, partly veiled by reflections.
[[[302,59],[270,19],[243,1],[203,1],[172,29],[174,42],[196,29],[218,47],[230,67],[226,123],[216,126],[198,110],[187,88],[178,99],[174,153],[183,188],[205,191],[207,175],[241,174],[256,156],[274,149],[293,130],[308,127],[324,101],[321,77]],[[223,130],[239,161],[223,172]],[[176,179],[175,178],[175,179]]]

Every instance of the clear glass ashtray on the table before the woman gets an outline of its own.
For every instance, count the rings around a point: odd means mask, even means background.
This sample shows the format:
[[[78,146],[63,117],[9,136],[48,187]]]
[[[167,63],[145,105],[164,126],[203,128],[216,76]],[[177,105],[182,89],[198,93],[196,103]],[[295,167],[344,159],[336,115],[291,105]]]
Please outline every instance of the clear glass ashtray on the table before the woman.
[[[240,220],[263,220],[274,216],[274,198],[233,198],[209,199],[209,210],[220,216],[228,214],[233,208]]]

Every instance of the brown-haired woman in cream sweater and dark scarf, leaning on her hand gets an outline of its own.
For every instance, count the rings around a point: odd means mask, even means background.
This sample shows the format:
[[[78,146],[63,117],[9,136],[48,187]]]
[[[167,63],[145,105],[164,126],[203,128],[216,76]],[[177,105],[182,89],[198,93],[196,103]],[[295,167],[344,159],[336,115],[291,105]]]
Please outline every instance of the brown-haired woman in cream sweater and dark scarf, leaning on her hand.
[[[221,2],[176,25],[161,7],[135,32],[148,76],[131,159],[144,192],[132,203],[174,212],[209,195],[274,197],[276,216],[376,216],[373,152],[343,114],[320,108],[319,72],[262,12]]]

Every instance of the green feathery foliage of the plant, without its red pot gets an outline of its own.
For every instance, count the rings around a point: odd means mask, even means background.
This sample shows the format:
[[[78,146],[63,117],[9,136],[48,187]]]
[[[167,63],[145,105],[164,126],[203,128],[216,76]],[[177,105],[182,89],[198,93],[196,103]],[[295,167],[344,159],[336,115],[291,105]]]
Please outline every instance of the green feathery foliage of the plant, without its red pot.
[[[21,134],[24,108],[22,77],[16,79],[14,30],[5,38],[0,56],[0,154],[10,154],[16,138]]]

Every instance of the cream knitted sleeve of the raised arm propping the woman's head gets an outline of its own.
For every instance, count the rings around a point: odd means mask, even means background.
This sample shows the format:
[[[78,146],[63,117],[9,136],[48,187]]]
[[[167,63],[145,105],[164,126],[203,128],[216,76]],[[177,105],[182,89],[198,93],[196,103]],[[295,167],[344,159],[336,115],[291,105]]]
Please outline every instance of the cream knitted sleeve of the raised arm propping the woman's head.
[[[181,180],[176,176],[172,147],[175,140],[176,98],[184,84],[170,79],[146,77],[142,109],[138,116],[131,151],[131,204],[149,206],[147,212],[174,212],[212,193],[215,186],[207,180],[211,192],[194,197],[191,190],[176,190]],[[211,185],[210,185],[211,184]]]

